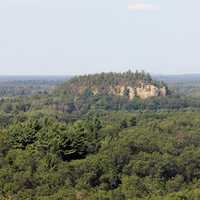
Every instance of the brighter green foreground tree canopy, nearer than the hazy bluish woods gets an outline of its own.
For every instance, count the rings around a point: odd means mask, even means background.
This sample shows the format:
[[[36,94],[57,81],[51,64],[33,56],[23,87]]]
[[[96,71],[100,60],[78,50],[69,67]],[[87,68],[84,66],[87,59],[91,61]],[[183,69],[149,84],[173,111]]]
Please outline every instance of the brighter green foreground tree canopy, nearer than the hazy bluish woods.
[[[196,200],[199,119],[199,112],[91,112],[66,123],[29,115],[1,131],[0,195]]]

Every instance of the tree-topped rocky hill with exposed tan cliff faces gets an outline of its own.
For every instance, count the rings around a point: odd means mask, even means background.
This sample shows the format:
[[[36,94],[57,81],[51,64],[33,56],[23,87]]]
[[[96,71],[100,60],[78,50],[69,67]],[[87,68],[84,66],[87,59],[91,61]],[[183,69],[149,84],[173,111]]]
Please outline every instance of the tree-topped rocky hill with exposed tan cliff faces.
[[[152,79],[144,71],[135,73],[101,73],[77,76],[64,84],[59,93],[70,96],[107,94],[126,96],[129,100],[134,97],[147,99],[155,96],[166,96],[168,88],[163,82]]]

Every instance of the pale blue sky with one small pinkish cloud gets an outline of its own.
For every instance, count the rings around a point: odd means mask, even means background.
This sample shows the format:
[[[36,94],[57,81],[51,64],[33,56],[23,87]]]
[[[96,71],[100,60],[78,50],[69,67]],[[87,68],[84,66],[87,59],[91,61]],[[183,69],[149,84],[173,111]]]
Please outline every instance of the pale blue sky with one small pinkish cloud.
[[[0,75],[200,73],[199,0],[0,0]]]

